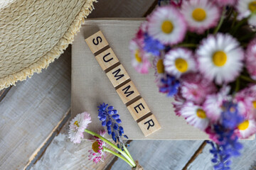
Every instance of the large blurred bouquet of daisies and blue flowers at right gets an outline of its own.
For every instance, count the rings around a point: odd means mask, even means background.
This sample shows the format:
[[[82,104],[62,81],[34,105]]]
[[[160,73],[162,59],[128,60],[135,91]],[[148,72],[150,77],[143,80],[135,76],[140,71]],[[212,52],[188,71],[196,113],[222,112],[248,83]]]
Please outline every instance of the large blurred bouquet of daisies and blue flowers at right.
[[[130,42],[137,72],[152,60],[176,115],[209,135],[215,169],[229,169],[238,139],[256,132],[255,26],[255,0],[169,1]]]

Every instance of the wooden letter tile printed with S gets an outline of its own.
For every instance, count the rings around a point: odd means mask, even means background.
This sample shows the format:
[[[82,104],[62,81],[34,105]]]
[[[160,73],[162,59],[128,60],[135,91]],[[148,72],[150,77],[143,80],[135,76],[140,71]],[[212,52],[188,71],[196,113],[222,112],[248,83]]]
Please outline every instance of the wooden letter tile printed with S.
[[[93,54],[95,54],[95,52],[99,50],[102,50],[102,48],[108,45],[108,42],[104,37],[104,35],[102,34],[101,30],[91,35],[89,38],[86,38],[85,41],[87,45],[90,47],[90,50],[92,51]]]

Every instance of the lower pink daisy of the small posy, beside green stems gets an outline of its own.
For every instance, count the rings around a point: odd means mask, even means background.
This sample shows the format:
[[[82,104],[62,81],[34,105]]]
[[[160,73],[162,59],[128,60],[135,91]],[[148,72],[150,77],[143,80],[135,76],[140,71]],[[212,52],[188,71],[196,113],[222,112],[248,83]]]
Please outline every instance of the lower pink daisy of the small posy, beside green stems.
[[[105,135],[105,130],[100,130],[98,132],[99,135],[101,135],[102,137],[104,137]],[[106,143],[102,140],[100,140],[100,138],[98,137],[93,137],[92,140],[92,149],[90,149],[89,152],[89,160],[93,160],[93,162],[95,162],[96,164],[100,161],[104,161],[106,154],[105,152],[102,151],[103,147],[105,147]]]

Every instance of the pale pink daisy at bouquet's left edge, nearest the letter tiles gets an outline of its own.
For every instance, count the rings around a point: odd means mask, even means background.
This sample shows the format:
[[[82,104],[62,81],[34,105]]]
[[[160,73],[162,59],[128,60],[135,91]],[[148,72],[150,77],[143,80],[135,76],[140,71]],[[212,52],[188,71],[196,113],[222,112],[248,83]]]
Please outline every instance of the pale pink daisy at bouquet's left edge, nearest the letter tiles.
[[[144,52],[136,40],[131,40],[129,50],[132,52],[132,66],[141,74],[149,73],[149,53]]]

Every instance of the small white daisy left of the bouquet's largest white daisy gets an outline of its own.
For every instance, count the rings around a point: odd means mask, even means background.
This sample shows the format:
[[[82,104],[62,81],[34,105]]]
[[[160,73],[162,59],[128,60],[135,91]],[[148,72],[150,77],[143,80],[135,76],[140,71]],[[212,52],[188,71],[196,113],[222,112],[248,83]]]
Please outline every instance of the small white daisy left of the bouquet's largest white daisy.
[[[176,48],[166,53],[164,68],[167,73],[179,78],[182,74],[195,70],[196,61],[190,50]]]

